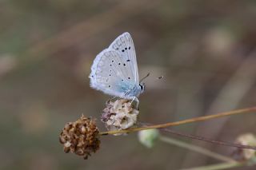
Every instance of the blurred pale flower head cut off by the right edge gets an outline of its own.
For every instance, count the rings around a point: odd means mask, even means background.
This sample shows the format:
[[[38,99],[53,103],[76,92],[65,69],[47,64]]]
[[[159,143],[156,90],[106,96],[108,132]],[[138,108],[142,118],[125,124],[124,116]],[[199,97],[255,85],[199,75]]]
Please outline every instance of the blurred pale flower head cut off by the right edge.
[[[236,139],[236,143],[243,145],[256,146],[256,136],[252,133],[245,133]],[[256,157],[256,151],[253,149],[237,148],[234,152],[234,156],[238,160],[250,160]]]

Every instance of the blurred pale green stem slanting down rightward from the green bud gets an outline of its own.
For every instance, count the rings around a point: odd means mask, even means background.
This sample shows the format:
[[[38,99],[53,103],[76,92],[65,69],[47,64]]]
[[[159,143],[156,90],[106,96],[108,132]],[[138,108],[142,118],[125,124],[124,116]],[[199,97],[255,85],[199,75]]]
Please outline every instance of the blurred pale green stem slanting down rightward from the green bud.
[[[206,148],[201,148],[201,147],[196,146],[194,144],[188,144],[188,143],[183,142],[181,140],[175,140],[173,138],[166,137],[166,136],[159,136],[159,140],[162,140],[163,142],[166,142],[168,144],[174,144],[174,145],[176,145],[178,147],[181,147],[181,148],[187,148],[187,149],[189,149],[191,151],[194,151],[194,152],[202,153],[203,155],[213,157],[217,160],[222,160],[222,161],[229,162],[229,163],[236,163],[237,162],[237,161],[231,159],[230,157],[222,156],[218,153],[211,152],[210,150],[208,150]]]

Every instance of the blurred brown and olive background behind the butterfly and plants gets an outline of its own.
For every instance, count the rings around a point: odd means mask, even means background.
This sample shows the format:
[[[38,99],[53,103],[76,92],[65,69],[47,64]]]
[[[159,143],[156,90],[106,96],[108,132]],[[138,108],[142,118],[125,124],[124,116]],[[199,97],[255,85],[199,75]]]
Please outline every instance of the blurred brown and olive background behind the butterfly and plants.
[[[160,0],[0,1],[0,169],[180,169],[218,160],[136,133],[103,136],[89,160],[65,154],[66,122],[100,121],[105,94],[90,89],[94,57],[130,32],[146,93],[140,121],[179,121],[256,103],[256,2]],[[157,77],[164,76],[162,80]],[[256,132],[255,114],[175,127],[233,142]],[[171,135],[168,135],[171,136]],[[230,156],[233,148],[175,139]],[[255,169],[236,168],[236,169]]]

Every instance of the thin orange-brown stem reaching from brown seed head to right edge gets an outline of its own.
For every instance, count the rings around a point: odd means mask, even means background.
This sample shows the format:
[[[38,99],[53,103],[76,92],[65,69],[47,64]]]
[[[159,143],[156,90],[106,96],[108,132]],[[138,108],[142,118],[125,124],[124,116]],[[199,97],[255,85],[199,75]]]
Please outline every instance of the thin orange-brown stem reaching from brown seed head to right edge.
[[[217,113],[214,115],[208,115],[208,116],[204,116],[204,117],[194,117],[194,118],[186,119],[183,121],[170,122],[170,123],[160,124],[160,125],[150,125],[150,126],[140,127],[140,128],[129,128],[129,129],[125,129],[125,130],[114,130],[114,131],[108,131],[108,132],[100,132],[99,135],[137,132],[137,131],[146,130],[146,129],[150,129],[150,128],[166,128],[166,127],[170,127],[170,126],[184,125],[184,124],[197,122],[197,121],[206,121],[206,120],[215,119],[218,117],[226,117],[226,116],[232,116],[232,115],[237,115],[237,114],[252,113],[254,111],[256,111],[256,107],[247,108],[247,109],[238,109],[238,110],[224,112],[224,113]]]

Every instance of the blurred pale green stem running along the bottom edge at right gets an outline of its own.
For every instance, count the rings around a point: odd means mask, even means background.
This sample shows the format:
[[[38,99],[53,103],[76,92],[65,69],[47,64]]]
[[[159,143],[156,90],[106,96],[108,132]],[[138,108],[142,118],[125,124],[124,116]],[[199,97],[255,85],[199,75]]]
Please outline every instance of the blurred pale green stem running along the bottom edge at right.
[[[241,167],[243,165],[245,165],[245,163],[243,163],[243,162],[222,163],[222,164],[213,164],[213,165],[202,166],[202,167],[197,167],[197,168],[186,168],[186,169],[182,169],[182,170],[221,170],[221,169]]]

